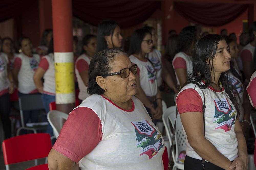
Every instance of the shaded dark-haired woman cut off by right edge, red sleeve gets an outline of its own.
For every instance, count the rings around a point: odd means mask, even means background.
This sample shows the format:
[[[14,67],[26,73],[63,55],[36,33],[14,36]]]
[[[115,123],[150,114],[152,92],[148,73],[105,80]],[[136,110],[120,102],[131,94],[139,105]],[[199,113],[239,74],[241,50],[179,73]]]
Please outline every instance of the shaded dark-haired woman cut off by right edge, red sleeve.
[[[251,75],[252,75],[252,61],[253,61],[253,54],[256,46],[256,21],[254,21],[249,27],[249,36],[250,42],[243,47],[241,52],[241,59],[243,63],[243,72],[245,75],[245,83],[248,84]]]

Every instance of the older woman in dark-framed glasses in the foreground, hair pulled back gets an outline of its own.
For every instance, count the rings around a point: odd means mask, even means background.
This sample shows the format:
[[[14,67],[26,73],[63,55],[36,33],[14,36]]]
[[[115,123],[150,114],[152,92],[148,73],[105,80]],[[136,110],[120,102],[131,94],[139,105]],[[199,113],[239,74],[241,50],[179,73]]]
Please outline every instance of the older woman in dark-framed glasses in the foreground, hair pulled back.
[[[91,96],[70,112],[49,153],[49,169],[163,169],[164,140],[134,97],[136,73],[120,49],[95,54]]]

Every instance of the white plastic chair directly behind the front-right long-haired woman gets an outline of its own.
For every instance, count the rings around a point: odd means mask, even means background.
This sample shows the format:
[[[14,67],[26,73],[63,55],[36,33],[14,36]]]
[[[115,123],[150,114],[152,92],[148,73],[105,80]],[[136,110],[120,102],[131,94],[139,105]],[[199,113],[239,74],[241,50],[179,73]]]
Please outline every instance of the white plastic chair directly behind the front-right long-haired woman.
[[[174,123],[175,123],[175,118],[176,118],[176,106],[171,106],[171,107],[167,108],[167,110],[163,113],[163,122],[164,122],[166,134],[168,136],[170,145],[172,145],[173,134],[171,132],[169,121],[171,122],[172,127],[173,127]],[[173,158],[173,162],[174,162],[173,170],[177,169],[177,168],[184,169],[184,164],[179,163],[177,161],[179,153],[181,151],[186,150],[186,137],[183,132],[183,127],[182,127],[182,123],[181,123],[179,114],[177,116],[177,121],[176,121],[176,132],[175,132],[175,141],[174,142],[175,142],[174,146],[176,147],[176,149],[175,149],[175,152],[172,153],[172,158]]]

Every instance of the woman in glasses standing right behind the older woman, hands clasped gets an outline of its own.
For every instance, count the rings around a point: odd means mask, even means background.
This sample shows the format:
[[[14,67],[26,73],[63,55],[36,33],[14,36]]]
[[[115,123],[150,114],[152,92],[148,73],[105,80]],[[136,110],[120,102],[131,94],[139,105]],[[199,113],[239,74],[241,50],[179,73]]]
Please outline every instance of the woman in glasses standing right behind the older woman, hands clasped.
[[[137,64],[137,93],[148,114],[156,123],[163,114],[162,99],[157,87],[156,71],[145,55],[152,50],[152,36],[147,29],[138,29],[131,36],[128,55],[131,62]]]

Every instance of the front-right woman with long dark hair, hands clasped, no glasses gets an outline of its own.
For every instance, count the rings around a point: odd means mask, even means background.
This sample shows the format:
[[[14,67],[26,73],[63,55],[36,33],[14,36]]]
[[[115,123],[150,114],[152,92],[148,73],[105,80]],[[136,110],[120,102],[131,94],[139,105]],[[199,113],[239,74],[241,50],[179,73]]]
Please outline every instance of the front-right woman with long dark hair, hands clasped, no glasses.
[[[246,169],[239,105],[228,84],[230,60],[221,35],[206,35],[195,44],[193,72],[176,99],[186,136],[185,170]]]

